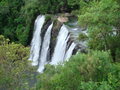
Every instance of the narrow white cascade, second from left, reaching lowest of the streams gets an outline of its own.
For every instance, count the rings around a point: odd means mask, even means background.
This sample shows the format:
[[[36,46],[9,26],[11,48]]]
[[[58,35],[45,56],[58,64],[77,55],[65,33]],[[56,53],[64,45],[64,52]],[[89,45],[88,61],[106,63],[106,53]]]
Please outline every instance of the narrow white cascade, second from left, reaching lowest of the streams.
[[[50,46],[52,27],[53,27],[53,23],[48,27],[45,33],[44,39],[43,39],[42,50],[41,50],[41,55],[40,55],[40,63],[39,63],[39,68],[37,70],[40,73],[43,72],[44,65],[47,63],[47,55],[48,55],[48,50]]]

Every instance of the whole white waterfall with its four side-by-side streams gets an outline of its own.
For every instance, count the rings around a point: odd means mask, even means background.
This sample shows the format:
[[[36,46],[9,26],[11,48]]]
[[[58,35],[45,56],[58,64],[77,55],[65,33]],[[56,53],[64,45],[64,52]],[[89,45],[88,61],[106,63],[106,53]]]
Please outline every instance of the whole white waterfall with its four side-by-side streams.
[[[63,63],[64,60],[67,60],[72,56],[73,50],[76,46],[74,42],[69,44],[70,41],[70,30],[66,25],[62,25],[59,30],[58,36],[55,38],[51,38],[55,33],[52,33],[53,23],[48,26],[47,29],[45,28],[45,16],[39,15],[35,20],[35,31],[33,34],[33,39],[31,41],[31,50],[30,50],[30,58],[29,60],[32,61],[33,66],[38,65],[38,72],[42,73],[44,70],[45,64],[49,63],[51,65],[58,65],[59,63]],[[53,29],[54,30],[54,29]],[[45,32],[45,33],[42,33]],[[44,37],[42,37],[44,36]],[[41,38],[43,41],[41,42]],[[56,39],[57,38],[57,39]],[[50,48],[51,39],[56,39],[55,47]],[[69,47],[68,47],[69,46]],[[52,51],[49,53],[49,51]],[[50,55],[49,55],[50,54]],[[51,56],[51,60],[49,60],[48,55]]]

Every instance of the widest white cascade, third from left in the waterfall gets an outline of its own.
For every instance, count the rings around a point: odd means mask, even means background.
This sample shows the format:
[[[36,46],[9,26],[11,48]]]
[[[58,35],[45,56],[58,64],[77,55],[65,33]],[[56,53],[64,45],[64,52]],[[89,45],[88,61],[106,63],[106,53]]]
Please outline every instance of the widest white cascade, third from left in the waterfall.
[[[57,37],[57,43],[54,49],[54,53],[52,56],[51,63],[52,65],[57,65],[59,63],[62,63],[65,56],[67,41],[69,39],[69,32],[65,25],[63,25],[60,29],[60,32]]]

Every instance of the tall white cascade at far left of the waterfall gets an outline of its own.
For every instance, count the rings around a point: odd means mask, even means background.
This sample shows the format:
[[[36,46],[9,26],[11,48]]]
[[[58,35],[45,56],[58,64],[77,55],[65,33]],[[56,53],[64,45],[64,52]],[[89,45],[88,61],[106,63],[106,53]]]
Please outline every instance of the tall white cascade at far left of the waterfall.
[[[33,39],[31,42],[31,53],[29,60],[32,61],[32,65],[38,65],[38,58],[40,53],[40,46],[41,46],[41,29],[45,22],[45,16],[39,15],[35,21],[35,32],[33,35]]]

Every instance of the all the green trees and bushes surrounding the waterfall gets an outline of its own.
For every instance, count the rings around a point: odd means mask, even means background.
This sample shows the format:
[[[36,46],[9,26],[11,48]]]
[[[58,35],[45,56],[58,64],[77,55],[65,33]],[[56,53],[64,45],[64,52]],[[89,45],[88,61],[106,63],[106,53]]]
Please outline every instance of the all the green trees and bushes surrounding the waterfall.
[[[0,7],[0,89],[32,89],[35,69],[25,46],[34,20],[39,14],[69,12],[88,29],[79,39],[88,39],[89,52],[64,66],[46,65],[33,90],[120,90],[120,0],[1,0]]]

